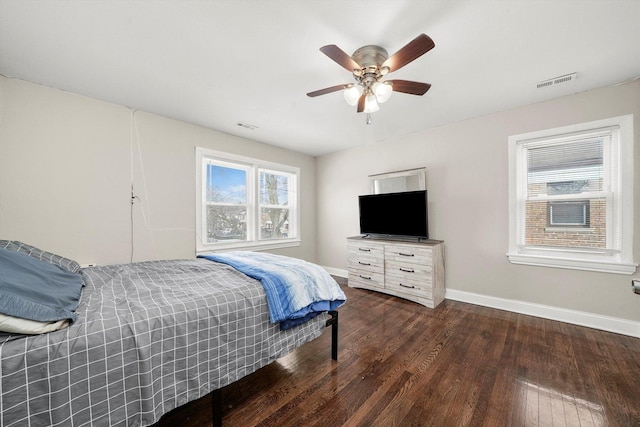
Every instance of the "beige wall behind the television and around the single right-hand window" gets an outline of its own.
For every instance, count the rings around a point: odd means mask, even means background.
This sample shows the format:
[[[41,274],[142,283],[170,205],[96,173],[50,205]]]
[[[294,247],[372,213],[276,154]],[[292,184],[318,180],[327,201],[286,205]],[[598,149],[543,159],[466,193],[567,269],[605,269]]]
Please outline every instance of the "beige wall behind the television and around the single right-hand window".
[[[445,241],[446,286],[640,321],[633,276],[510,264],[507,138],[624,114],[635,118],[635,260],[640,259],[640,81],[562,97],[318,158],[318,263],[346,269],[367,176],[427,168],[429,232]],[[373,125],[375,126],[375,124]]]

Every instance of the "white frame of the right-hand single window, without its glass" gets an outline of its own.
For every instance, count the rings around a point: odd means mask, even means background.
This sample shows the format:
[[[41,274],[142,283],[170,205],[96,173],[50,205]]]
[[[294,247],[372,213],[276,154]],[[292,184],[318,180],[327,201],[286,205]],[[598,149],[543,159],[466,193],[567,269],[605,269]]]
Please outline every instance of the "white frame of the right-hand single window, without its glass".
[[[525,245],[527,147],[553,144],[575,134],[615,129],[611,140],[608,175],[607,248],[579,250]],[[633,274],[633,115],[612,117],[509,137],[509,250],[514,264]],[[606,151],[606,150],[605,150]],[[607,168],[607,165],[605,165]],[[616,230],[618,230],[616,232]]]

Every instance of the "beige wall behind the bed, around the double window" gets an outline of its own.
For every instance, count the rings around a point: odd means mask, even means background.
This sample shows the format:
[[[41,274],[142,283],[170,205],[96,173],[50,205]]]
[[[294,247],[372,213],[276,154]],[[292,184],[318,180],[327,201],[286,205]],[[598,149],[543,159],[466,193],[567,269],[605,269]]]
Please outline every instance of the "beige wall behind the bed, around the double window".
[[[133,126],[132,126],[133,125]],[[301,237],[316,257],[315,160],[210,129],[0,76],[0,239],[80,263],[195,255],[195,147],[301,171]]]

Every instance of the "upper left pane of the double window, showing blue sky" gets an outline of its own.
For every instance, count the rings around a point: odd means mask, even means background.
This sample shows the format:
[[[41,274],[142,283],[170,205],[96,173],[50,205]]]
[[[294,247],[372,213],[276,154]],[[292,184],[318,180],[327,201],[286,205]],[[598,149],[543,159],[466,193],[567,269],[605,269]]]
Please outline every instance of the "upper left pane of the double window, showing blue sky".
[[[207,165],[207,202],[247,203],[247,172],[243,169]]]

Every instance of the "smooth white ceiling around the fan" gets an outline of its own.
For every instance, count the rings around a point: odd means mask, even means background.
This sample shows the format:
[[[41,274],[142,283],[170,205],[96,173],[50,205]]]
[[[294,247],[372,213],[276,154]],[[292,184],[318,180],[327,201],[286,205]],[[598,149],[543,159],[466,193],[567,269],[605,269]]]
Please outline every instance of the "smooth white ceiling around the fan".
[[[322,155],[640,75],[637,0],[0,0],[0,74]],[[318,49],[436,47],[372,114]],[[570,83],[536,83],[577,72]],[[237,125],[257,126],[249,130]]]

